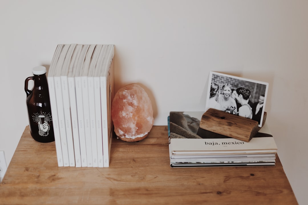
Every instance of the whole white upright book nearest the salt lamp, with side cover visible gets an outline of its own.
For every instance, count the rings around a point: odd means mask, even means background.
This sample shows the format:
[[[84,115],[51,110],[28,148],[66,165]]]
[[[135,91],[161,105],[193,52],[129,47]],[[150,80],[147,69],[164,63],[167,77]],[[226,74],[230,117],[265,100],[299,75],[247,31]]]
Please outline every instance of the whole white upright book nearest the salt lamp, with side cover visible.
[[[112,141],[111,101],[114,95],[113,57],[114,45],[108,45],[106,59],[100,74],[101,112],[104,167],[109,167],[110,148]]]

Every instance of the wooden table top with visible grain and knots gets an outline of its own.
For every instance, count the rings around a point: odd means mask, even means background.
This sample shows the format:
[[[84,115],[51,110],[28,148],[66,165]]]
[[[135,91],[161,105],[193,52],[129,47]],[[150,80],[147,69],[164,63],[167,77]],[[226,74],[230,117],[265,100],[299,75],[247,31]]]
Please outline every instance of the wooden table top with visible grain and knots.
[[[273,167],[170,168],[167,126],[140,142],[114,138],[109,168],[58,167],[55,142],[25,128],[0,184],[0,204],[298,204]]]

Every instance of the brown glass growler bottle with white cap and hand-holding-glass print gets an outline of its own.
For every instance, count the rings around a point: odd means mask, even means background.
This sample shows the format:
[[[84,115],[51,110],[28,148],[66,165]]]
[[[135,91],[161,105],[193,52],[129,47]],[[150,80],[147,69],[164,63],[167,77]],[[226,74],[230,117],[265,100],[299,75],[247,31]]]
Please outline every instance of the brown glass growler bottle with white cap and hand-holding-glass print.
[[[46,68],[44,66],[34,67],[32,73],[34,76],[27,77],[25,80],[30,133],[33,139],[38,142],[52,142],[55,141],[55,136],[52,126]],[[34,81],[32,90],[28,89],[30,80]]]

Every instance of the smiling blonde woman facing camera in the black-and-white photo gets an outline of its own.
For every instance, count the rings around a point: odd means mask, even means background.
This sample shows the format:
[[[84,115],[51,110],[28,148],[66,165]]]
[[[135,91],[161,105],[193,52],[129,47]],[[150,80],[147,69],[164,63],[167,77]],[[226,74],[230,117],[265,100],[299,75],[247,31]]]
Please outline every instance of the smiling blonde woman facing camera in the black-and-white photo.
[[[222,94],[218,96],[218,103],[221,105],[221,110],[231,114],[237,114],[237,106],[235,100],[231,97],[231,85],[225,83],[222,86]]]

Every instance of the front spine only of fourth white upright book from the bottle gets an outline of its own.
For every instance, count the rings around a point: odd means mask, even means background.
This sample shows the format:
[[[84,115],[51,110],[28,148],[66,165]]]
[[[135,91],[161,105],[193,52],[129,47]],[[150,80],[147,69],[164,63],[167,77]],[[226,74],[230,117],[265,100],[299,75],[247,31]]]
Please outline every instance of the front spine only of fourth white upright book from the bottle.
[[[76,163],[76,167],[81,167],[81,154],[80,154],[74,77],[68,77],[67,82],[68,82],[68,91],[69,91],[69,98],[70,98],[70,105],[71,105],[71,125],[72,125],[72,132],[73,132],[73,141],[74,141],[75,163]]]

